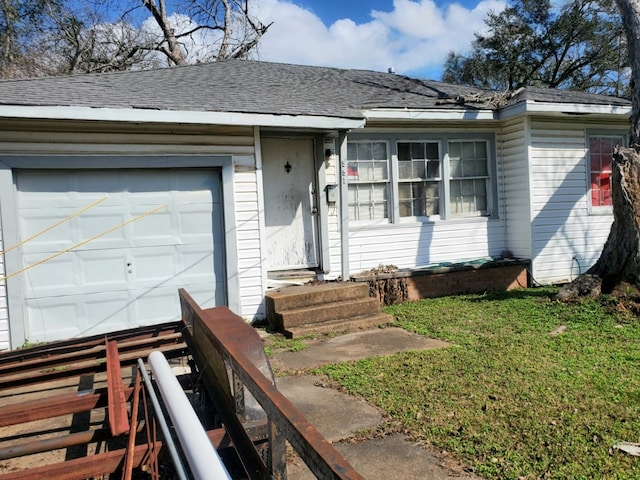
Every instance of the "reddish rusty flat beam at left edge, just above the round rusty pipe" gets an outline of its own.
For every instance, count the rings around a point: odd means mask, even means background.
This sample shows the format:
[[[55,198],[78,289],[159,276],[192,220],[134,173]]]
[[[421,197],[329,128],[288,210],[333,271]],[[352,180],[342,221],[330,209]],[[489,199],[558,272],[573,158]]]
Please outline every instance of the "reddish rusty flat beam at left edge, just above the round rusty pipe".
[[[131,397],[131,387],[123,390],[125,399]],[[0,427],[79,413],[107,406],[107,389],[86,393],[73,392],[0,407]]]

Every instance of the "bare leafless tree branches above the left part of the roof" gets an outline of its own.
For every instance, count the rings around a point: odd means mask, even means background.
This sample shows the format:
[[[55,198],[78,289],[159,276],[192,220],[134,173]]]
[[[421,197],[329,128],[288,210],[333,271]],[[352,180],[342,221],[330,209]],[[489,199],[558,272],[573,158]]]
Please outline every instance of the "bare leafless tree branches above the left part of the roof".
[[[246,58],[250,0],[0,0],[0,78]]]

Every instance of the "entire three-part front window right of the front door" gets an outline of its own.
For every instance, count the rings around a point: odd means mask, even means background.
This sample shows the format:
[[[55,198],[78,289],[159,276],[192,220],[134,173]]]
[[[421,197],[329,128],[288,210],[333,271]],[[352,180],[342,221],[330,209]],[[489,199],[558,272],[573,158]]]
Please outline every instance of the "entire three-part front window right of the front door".
[[[409,223],[490,216],[497,202],[492,134],[350,134],[349,219]]]

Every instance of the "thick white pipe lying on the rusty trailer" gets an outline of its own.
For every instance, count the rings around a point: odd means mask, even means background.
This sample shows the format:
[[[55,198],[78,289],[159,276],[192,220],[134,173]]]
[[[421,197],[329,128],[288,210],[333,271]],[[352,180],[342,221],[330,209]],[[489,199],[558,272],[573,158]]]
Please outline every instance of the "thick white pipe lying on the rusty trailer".
[[[193,477],[196,480],[231,480],[162,352],[155,351],[149,355],[149,366]]]

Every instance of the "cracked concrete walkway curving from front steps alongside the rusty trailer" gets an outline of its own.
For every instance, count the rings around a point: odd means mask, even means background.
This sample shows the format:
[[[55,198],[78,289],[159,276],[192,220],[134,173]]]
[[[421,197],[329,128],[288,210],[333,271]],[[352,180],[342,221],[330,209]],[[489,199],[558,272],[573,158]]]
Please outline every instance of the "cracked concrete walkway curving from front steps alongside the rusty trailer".
[[[445,342],[390,327],[315,341],[306,350],[276,354],[270,362],[280,391],[365,478],[479,480],[443,452],[416,445],[402,434],[356,441],[358,431],[375,429],[385,422],[383,412],[362,399],[327,387],[323,377],[300,374],[327,363],[446,346]],[[290,375],[280,376],[283,373]],[[287,474],[289,480],[316,478],[299,458],[289,461]]]

